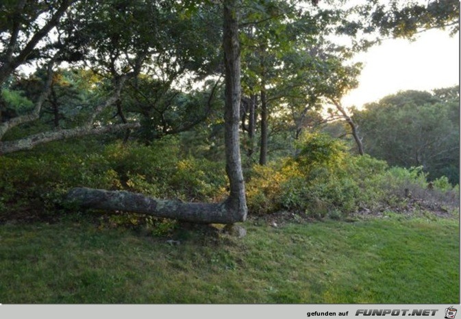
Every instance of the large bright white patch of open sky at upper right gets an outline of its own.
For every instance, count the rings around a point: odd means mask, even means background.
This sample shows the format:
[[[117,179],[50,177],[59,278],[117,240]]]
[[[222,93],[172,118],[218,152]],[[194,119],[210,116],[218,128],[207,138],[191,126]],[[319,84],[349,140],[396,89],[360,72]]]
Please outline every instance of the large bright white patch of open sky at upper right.
[[[460,81],[460,36],[429,30],[416,41],[385,40],[356,56],[364,63],[359,86],[342,99],[342,105],[359,109],[399,90],[432,90]]]

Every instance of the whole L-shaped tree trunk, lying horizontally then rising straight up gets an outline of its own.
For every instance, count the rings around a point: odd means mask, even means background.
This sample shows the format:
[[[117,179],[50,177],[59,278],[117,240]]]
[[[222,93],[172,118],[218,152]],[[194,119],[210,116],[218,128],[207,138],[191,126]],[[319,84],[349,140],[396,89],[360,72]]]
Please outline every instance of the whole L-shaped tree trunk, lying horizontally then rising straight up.
[[[240,45],[236,0],[224,1],[223,49],[225,62],[225,158],[229,177],[229,197],[222,203],[183,203],[153,199],[125,191],[74,188],[67,194],[70,201],[93,209],[136,212],[152,216],[205,222],[234,224],[247,218],[245,184],[240,160]]]

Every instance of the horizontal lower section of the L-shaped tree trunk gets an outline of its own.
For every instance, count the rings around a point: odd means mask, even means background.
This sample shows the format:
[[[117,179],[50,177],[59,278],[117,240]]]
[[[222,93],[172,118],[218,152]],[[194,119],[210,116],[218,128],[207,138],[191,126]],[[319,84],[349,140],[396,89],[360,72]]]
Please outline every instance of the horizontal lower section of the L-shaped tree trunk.
[[[221,203],[184,203],[120,190],[73,188],[66,194],[66,201],[91,209],[133,212],[206,224],[234,224],[245,221],[247,216],[246,209],[240,209],[240,203],[230,198]]]

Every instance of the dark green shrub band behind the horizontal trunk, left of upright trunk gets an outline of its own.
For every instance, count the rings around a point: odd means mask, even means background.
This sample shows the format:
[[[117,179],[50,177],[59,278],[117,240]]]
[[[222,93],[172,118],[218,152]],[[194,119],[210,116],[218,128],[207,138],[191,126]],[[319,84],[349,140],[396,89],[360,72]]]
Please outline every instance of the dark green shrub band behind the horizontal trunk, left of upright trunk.
[[[158,198],[216,201],[225,194],[224,164],[182,159],[175,138],[150,146],[55,142],[0,157],[0,219],[61,214],[73,187],[129,190]]]

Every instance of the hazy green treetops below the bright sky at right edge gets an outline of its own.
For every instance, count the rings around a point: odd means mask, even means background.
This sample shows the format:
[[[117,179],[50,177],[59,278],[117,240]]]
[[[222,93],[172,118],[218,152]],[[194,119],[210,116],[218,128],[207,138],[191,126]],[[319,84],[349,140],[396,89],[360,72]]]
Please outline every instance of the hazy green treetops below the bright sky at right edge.
[[[366,153],[391,166],[421,166],[429,179],[460,178],[459,86],[405,91],[354,112]]]

